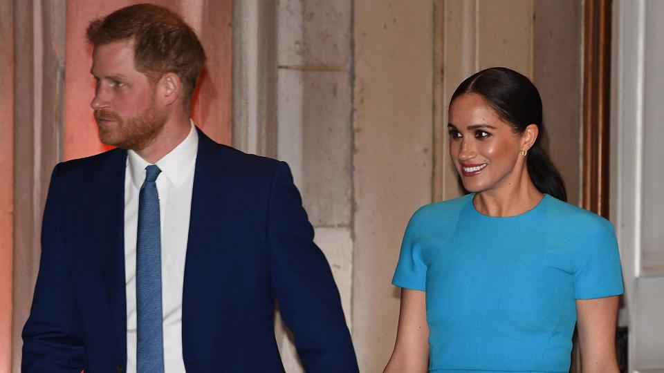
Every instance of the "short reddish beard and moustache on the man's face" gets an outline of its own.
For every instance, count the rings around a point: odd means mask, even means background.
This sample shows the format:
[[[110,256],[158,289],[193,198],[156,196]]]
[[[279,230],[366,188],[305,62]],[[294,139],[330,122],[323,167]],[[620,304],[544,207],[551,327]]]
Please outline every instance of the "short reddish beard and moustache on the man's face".
[[[101,142],[133,151],[145,149],[154,142],[166,124],[166,115],[157,111],[152,97],[150,101],[150,105],[143,113],[126,119],[107,109],[95,110]],[[100,124],[100,119],[110,119],[113,122]]]

